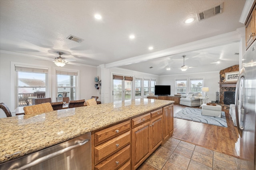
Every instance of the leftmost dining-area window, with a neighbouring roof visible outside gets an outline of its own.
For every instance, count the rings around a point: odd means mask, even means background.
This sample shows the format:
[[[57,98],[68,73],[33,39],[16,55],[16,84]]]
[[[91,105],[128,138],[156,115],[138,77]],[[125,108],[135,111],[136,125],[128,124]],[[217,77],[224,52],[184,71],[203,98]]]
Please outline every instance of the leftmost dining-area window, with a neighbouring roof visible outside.
[[[15,71],[17,77],[16,107],[32,104],[33,98],[45,98],[45,95],[48,94],[48,68],[15,64]]]

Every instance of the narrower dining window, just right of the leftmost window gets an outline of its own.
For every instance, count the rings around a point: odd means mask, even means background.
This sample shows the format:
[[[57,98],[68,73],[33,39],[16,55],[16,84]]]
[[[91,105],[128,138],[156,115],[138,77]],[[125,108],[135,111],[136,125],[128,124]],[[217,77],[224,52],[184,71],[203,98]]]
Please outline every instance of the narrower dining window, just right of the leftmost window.
[[[66,97],[69,97],[70,100],[76,100],[78,72],[56,70],[56,75],[57,96],[66,92]]]

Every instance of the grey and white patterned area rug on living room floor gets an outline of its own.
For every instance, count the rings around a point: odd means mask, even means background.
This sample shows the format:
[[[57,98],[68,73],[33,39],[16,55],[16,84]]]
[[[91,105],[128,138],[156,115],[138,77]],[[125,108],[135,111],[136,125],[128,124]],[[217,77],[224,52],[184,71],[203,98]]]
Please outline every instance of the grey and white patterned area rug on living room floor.
[[[221,111],[222,117],[206,116],[202,115],[201,113],[202,109],[185,107],[184,109],[178,111],[178,113],[174,113],[173,117],[216,126],[228,127],[224,111]]]

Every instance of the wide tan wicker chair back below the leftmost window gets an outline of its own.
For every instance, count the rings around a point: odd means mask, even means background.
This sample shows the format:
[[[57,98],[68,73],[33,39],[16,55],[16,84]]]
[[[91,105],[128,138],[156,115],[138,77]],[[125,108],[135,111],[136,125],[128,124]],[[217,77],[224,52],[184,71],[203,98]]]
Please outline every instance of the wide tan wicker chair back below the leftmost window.
[[[48,103],[36,104],[32,106],[26,106],[23,108],[25,115],[46,113],[53,111],[52,105]]]

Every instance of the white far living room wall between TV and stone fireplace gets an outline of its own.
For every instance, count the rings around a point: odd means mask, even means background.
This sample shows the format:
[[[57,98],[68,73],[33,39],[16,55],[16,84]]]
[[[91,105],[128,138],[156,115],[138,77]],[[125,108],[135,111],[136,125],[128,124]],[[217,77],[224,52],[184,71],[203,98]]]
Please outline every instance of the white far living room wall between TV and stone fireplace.
[[[216,100],[216,91],[220,92],[220,73],[219,72],[204,72],[204,73],[187,73],[181,75],[168,75],[160,76],[158,85],[171,85],[171,95],[176,94],[175,89],[175,78],[189,78],[190,77],[204,77],[204,87],[209,87],[209,92],[207,92],[208,102]]]

